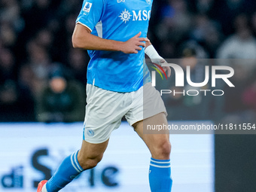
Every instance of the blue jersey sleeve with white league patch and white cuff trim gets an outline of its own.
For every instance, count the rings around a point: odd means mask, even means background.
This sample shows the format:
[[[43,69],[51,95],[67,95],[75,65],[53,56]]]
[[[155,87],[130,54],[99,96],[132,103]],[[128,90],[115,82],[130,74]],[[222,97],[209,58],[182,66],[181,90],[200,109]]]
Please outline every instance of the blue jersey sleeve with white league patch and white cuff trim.
[[[92,32],[101,20],[104,11],[104,0],[84,0],[83,7],[75,23],[86,26]]]

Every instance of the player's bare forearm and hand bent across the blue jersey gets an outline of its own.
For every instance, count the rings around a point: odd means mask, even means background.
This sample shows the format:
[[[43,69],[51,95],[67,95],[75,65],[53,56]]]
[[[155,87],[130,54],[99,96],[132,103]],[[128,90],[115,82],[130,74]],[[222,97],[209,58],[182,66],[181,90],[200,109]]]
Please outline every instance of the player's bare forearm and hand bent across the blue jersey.
[[[72,44],[75,48],[86,50],[110,50],[122,51],[123,53],[138,53],[138,50],[142,50],[142,47],[145,47],[145,41],[149,41],[148,38],[140,38],[139,36],[141,34],[142,32],[139,32],[128,41],[114,41],[92,35],[90,29],[77,23],[72,35]]]

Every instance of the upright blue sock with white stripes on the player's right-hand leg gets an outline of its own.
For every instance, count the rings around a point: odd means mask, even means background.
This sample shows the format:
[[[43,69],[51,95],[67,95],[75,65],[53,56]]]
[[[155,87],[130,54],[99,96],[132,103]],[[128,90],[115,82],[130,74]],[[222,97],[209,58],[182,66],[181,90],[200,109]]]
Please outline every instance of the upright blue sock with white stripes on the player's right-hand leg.
[[[170,192],[172,190],[170,160],[155,160],[151,158],[149,184],[151,192]]]

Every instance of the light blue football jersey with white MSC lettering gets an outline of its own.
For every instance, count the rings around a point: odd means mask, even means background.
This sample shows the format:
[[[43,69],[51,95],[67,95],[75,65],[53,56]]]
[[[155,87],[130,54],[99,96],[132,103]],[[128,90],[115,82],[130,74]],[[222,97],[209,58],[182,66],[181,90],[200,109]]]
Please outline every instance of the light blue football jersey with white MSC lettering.
[[[147,37],[153,0],[84,0],[76,23],[87,26],[93,35],[127,41],[139,32]],[[88,50],[87,83],[105,90],[132,92],[150,82],[144,48],[137,54]],[[144,71],[144,72],[143,72]],[[143,74],[146,77],[143,81]]]

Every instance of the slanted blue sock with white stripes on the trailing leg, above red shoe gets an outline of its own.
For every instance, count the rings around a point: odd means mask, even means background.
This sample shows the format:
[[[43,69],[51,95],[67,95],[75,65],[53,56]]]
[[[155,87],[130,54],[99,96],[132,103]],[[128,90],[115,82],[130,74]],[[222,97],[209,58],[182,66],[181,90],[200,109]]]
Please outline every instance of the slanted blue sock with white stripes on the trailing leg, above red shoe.
[[[66,157],[59,168],[46,183],[47,192],[56,192],[61,190],[66,184],[69,184],[84,169],[78,163],[78,151]]]

